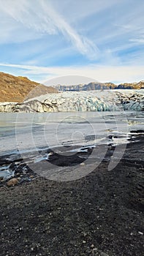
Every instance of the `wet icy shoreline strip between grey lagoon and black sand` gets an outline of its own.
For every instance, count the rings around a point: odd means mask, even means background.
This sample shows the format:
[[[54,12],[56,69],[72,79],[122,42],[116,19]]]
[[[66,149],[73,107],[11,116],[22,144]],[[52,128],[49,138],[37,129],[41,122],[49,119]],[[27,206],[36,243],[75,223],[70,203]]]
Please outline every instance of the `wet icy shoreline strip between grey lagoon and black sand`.
[[[118,151],[125,151],[125,148],[129,147],[128,144],[137,143],[138,140],[143,138],[143,135],[144,130],[140,129],[129,132],[129,136],[126,135],[127,139],[120,136],[118,144],[114,143],[113,136],[110,135],[110,141],[107,142],[107,144],[100,143],[95,145],[90,140],[91,144],[86,146],[80,146],[79,144],[69,145],[69,143],[65,143],[63,146],[53,146],[52,148],[41,146],[22,151],[7,151],[6,154],[0,155],[0,187],[7,184],[7,181],[11,178],[18,178],[18,184],[24,181],[32,181],[33,178],[37,176],[50,178],[49,175],[45,175],[48,168],[52,170],[52,173],[55,172],[56,175],[59,175],[59,170],[64,169],[66,172],[69,172],[67,167],[72,168],[75,165],[77,167],[86,165],[86,169],[89,167],[88,165],[93,164],[92,168],[95,169],[101,162],[109,162],[110,164],[110,162],[113,161],[115,151],[115,157],[118,158]],[[88,138],[91,138],[91,136]],[[127,140],[127,143],[121,143],[121,139],[124,141]],[[118,140],[117,136],[116,140]],[[115,161],[117,163],[119,162],[117,159],[115,159]],[[42,165],[42,167],[40,165]],[[59,170],[57,170],[58,167]],[[45,168],[45,173],[42,168]],[[42,171],[44,175],[40,173],[40,171]],[[91,173],[91,171],[89,173]],[[86,175],[87,174],[88,173],[86,173]],[[50,179],[53,180],[53,176]],[[73,179],[75,180],[77,178]],[[54,178],[54,180],[56,179]]]

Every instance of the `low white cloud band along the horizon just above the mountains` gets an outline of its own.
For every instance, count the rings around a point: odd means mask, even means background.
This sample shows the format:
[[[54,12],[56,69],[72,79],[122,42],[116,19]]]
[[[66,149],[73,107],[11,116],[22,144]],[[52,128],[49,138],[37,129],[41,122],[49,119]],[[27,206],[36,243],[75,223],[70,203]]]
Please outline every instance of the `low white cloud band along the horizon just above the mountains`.
[[[0,64],[3,67],[11,67],[15,69],[25,69],[25,72],[20,71],[20,74],[31,77],[31,75],[38,75],[43,79],[42,83],[49,79],[58,78],[61,76],[76,75],[91,78],[91,80],[98,80],[100,82],[115,81],[134,82],[143,80],[144,66],[99,66],[89,65],[84,67],[37,67],[18,64]],[[13,73],[15,75],[15,73]],[[44,81],[45,80],[45,81]]]

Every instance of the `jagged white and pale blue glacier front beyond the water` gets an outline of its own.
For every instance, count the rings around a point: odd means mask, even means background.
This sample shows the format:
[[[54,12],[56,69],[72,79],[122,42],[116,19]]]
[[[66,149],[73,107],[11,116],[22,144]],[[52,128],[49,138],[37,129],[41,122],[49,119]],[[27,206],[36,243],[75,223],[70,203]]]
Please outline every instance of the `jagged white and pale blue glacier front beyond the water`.
[[[22,103],[1,102],[0,112],[76,112],[144,110],[144,90],[64,91]]]

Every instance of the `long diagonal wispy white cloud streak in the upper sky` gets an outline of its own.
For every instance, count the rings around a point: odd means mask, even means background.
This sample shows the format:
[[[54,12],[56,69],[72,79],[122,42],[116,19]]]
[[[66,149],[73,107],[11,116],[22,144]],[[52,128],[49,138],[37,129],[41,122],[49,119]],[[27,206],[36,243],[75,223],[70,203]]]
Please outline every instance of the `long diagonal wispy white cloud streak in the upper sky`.
[[[73,29],[48,1],[6,0],[1,5],[1,10],[10,15],[17,23],[21,23],[41,35],[63,34],[80,53],[89,59],[97,59],[98,57],[99,49],[94,42]]]

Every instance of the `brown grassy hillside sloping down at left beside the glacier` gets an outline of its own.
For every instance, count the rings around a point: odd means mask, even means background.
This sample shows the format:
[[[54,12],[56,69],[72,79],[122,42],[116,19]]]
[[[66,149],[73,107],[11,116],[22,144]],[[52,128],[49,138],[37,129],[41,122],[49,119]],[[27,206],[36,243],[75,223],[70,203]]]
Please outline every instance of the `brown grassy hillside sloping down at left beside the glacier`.
[[[0,72],[0,102],[23,102],[41,94],[56,93],[53,87],[43,86],[26,77]]]

